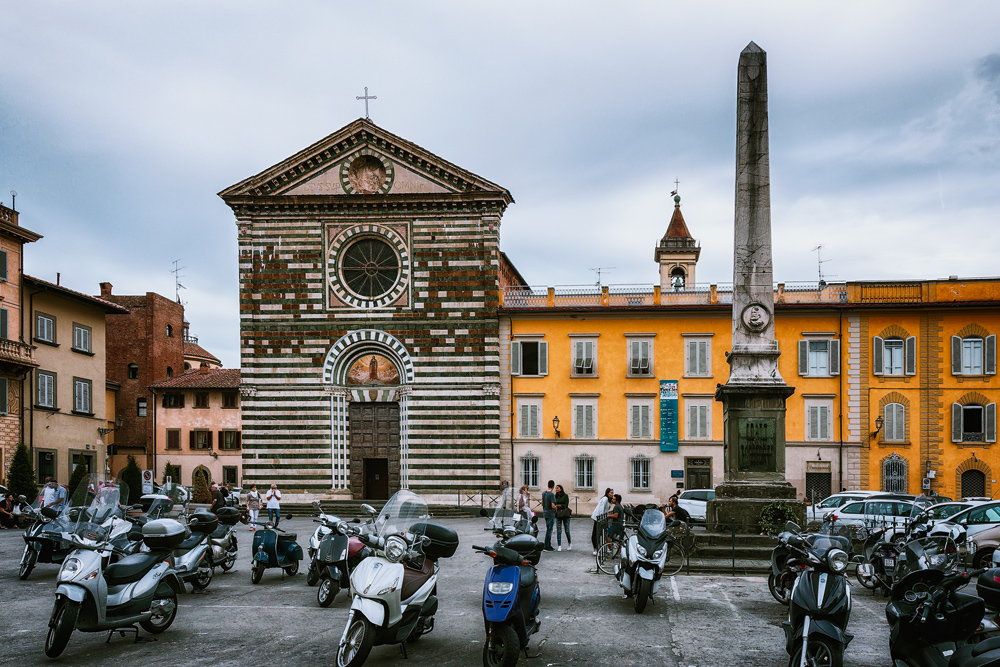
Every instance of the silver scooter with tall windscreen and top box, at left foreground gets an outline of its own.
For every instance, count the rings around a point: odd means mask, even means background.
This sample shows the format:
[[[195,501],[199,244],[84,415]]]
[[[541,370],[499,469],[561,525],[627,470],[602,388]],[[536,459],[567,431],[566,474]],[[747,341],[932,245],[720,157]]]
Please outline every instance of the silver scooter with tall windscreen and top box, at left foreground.
[[[171,519],[150,521],[142,529],[149,551],[124,555],[103,524],[120,512],[119,502],[128,497],[128,488],[98,480],[91,488],[90,504],[72,508],[69,514],[73,523],[65,536],[75,549],[59,569],[45,638],[50,658],[63,652],[74,629],[109,631],[109,639],[115,630],[135,632],[138,639],[137,623],[147,632],[163,632],[174,621],[177,594],[183,590],[173,571],[171,549],[183,540],[184,526]],[[109,564],[112,555],[121,558]]]

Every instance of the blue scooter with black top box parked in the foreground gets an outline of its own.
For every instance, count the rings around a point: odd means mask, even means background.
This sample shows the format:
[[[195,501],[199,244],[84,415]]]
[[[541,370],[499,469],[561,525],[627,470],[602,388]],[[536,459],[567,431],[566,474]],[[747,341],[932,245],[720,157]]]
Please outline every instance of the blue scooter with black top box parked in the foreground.
[[[514,511],[508,495],[513,496],[510,488],[504,490],[490,522],[499,539],[492,547],[472,547],[493,559],[483,584],[483,667],[513,667],[522,650],[528,657],[528,640],[541,627],[542,594],[535,566],[543,545],[530,533],[529,526],[537,533],[534,522]]]

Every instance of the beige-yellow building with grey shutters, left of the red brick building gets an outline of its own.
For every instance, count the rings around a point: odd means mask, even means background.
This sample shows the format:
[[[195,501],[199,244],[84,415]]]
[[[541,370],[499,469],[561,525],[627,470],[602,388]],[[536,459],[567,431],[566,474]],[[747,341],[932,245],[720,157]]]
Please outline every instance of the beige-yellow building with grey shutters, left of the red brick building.
[[[104,318],[128,311],[28,275],[24,292],[24,328],[38,363],[25,382],[25,430],[38,481],[52,477],[65,484],[78,463],[105,472],[105,437],[115,413],[105,382]]]

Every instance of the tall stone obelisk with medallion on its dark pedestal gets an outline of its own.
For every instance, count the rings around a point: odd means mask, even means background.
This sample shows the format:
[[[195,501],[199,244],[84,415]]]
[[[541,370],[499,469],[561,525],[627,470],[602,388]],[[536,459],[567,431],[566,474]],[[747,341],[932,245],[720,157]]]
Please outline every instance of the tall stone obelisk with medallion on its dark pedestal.
[[[725,481],[707,518],[710,527],[735,522],[737,530],[756,532],[764,506],[795,502],[795,487],[785,480],[785,399],[795,389],[778,372],[774,339],[767,54],[753,42],[740,54],[737,81],[733,349],[729,380],[715,391]]]

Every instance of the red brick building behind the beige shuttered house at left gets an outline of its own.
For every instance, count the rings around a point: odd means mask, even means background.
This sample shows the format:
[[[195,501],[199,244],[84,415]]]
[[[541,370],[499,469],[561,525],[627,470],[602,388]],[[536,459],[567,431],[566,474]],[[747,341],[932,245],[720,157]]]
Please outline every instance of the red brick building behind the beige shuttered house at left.
[[[153,292],[117,296],[111,283],[101,283],[101,298],[129,310],[106,318],[107,379],[121,383],[117,414],[122,425],[115,430],[111,470],[118,474],[129,455],[151,469],[155,433],[149,386],[184,373],[184,306]]]

